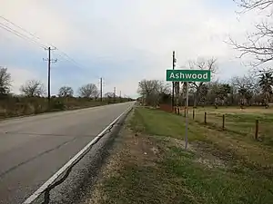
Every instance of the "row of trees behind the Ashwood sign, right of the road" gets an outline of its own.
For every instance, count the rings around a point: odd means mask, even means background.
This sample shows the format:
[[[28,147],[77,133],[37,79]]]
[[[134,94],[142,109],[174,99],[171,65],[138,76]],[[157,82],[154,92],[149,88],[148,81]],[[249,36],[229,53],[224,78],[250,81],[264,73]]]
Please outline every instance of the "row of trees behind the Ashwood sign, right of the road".
[[[190,62],[191,69],[208,69],[212,76],[217,73],[217,60],[198,59]],[[176,102],[184,105],[187,83],[176,83]],[[138,100],[147,105],[171,104],[171,83],[159,80],[142,80],[138,83]],[[264,105],[268,108],[273,100],[273,74],[271,72],[232,77],[228,82],[213,80],[211,83],[189,83],[189,104],[201,105]]]

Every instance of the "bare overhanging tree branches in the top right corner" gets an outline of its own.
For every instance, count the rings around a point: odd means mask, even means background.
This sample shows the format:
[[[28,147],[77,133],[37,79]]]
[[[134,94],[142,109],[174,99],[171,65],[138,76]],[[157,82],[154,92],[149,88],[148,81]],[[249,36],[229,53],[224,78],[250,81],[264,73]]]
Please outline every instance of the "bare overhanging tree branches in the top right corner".
[[[252,67],[271,62],[273,60],[273,26],[268,23],[268,19],[272,20],[273,0],[237,0],[235,2],[242,8],[240,13],[258,9],[265,14],[266,18],[255,25],[256,31],[247,35],[246,43],[239,44],[231,38],[227,43],[241,53],[239,57],[253,56],[254,62],[250,63]],[[267,14],[268,9],[270,9],[269,14]]]

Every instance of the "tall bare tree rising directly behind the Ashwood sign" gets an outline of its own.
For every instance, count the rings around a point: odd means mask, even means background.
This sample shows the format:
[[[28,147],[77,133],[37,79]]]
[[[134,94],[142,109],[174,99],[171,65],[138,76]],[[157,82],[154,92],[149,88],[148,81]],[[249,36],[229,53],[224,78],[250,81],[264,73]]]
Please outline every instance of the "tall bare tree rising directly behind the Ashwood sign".
[[[217,73],[217,59],[211,57],[210,59],[199,58],[197,61],[190,61],[189,62],[190,69],[194,70],[209,70],[211,75]],[[199,101],[201,95],[204,96],[204,93],[201,92],[204,83],[190,83],[190,88],[194,89],[194,106],[197,106],[197,101]]]

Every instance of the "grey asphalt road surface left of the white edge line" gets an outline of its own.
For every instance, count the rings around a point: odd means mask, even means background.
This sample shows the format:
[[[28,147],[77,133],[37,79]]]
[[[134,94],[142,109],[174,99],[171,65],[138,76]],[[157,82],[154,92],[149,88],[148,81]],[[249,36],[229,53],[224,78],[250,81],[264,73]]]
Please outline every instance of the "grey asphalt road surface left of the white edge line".
[[[22,203],[132,102],[0,122],[0,203]]]

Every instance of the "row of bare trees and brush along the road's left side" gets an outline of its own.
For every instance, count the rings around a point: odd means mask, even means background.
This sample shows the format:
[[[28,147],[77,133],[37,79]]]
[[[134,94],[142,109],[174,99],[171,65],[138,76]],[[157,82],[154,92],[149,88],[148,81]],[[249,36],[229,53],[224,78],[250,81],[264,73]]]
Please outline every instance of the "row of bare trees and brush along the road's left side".
[[[130,98],[116,97],[114,93],[107,92],[101,102],[96,84],[88,83],[79,87],[77,96],[72,87],[62,86],[48,103],[45,85],[40,81],[26,81],[20,86],[21,94],[11,92],[12,83],[8,69],[0,67],[0,118],[132,101]]]

